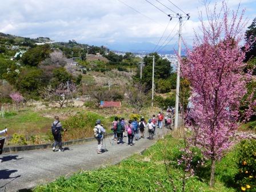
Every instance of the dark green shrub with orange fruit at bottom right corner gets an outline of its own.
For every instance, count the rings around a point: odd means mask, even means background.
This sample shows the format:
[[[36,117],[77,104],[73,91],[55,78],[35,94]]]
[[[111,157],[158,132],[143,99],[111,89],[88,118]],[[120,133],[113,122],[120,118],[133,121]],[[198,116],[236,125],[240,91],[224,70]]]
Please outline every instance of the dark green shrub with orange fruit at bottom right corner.
[[[256,191],[256,140],[245,139],[238,146],[238,168],[235,181],[242,190]]]

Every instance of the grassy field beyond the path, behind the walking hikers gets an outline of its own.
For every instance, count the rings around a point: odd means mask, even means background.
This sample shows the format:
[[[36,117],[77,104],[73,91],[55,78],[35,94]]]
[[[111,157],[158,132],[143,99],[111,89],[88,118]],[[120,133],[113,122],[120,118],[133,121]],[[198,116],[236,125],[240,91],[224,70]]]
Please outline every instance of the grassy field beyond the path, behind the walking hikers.
[[[60,121],[63,125],[65,125],[65,121],[67,118],[74,116],[75,114],[81,113],[94,113],[101,116],[101,118],[105,119],[105,127],[107,128],[107,132],[110,132],[110,124],[113,121],[115,115],[118,117],[124,117],[129,119],[131,113],[133,113],[133,109],[127,108],[126,105],[121,106],[121,108],[106,108],[100,109],[98,107],[93,108],[83,108],[83,107],[65,107],[63,109],[57,108],[46,108],[44,110],[34,110],[34,107],[26,107],[17,111],[10,111],[11,113],[15,113],[17,115],[11,115],[9,117],[0,118],[0,130],[7,127],[9,129],[8,134],[13,135],[14,133],[23,134],[25,136],[30,137],[30,135],[37,135],[41,138],[41,142],[49,142],[49,133],[50,133],[50,125],[54,120],[54,115],[59,115]],[[144,117],[147,117],[147,114],[151,114],[153,111],[158,111],[157,108],[154,109],[144,109],[142,114]],[[95,119],[94,119],[95,120]],[[93,123],[94,123],[93,120]],[[88,120],[90,121],[90,119]],[[91,129],[91,122],[85,122],[85,129]],[[74,126],[75,127],[75,126]],[[51,134],[50,134],[51,135]],[[81,135],[78,138],[81,137]],[[91,137],[87,135],[87,137]],[[71,129],[66,133],[66,139],[74,139],[75,135],[71,135]]]

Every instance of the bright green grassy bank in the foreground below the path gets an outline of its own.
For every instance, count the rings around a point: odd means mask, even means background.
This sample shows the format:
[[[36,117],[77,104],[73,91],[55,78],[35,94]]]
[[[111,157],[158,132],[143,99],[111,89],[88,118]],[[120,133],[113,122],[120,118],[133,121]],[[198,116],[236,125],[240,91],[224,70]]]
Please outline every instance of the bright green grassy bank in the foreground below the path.
[[[174,165],[181,146],[182,142],[178,139],[167,137],[167,140],[157,142],[143,155],[135,154],[119,165],[81,171],[70,178],[61,177],[48,185],[38,186],[34,191],[173,191],[163,163],[163,151],[167,154],[166,159]],[[235,156],[231,153],[227,157],[217,165],[214,189],[210,189],[206,182],[199,181],[197,177],[192,177],[187,180],[186,191],[235,191],[221,182],[226,176],[232,177],[234,174],[231,169],[234,163],[230,159]],[[182,170],[175,167],[171,172],[177,191],[181,191]]]

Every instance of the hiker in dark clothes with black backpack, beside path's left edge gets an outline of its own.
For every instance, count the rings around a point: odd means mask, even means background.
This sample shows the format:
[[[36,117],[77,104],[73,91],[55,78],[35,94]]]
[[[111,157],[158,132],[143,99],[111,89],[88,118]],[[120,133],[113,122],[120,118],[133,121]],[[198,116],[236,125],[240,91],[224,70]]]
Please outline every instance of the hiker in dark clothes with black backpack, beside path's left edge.
[[[61,122],[59,121],[59,117],[57,115],[54,117],[54,119],[54,122],[51,123],[51,133],[53,134],[54,138],[53,151],[55,152],[57,145],[59,147],[58,151],[64,151],[62,148],[61,131],[66,131],[66,129],[62,129]]]

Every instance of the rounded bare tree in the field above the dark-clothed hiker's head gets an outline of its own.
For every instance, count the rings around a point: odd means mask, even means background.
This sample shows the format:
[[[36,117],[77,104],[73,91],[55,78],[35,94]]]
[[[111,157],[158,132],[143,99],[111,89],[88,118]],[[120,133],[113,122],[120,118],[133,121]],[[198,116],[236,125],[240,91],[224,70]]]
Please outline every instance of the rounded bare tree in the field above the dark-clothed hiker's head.
[[[48,85],[41,91],[43,98],[59,104],[59,108],[69,102],[69,99],[74,97],[77,89],[74,83],[61,83],[57,87]]]

